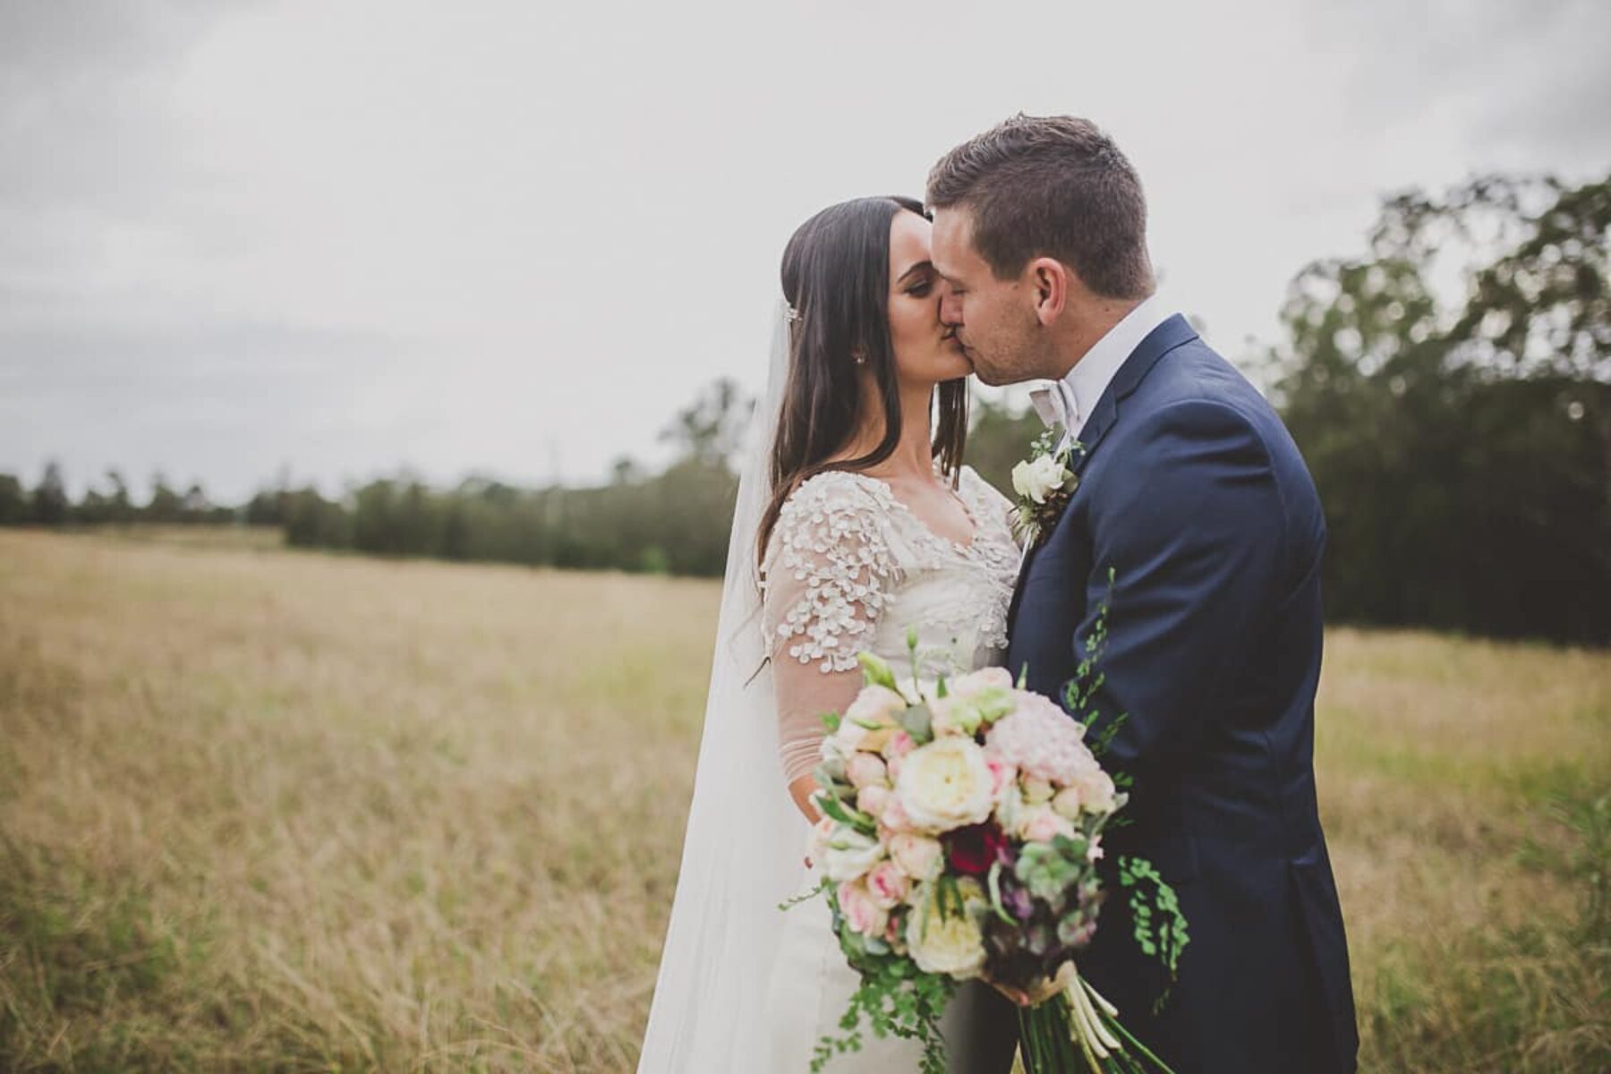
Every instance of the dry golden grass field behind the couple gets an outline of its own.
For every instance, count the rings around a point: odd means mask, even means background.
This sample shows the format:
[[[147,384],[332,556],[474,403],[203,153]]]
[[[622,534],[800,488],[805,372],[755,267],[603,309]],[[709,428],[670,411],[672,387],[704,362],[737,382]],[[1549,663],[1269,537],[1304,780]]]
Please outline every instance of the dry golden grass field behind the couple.
[[[0,531],[0,1069],[632,1071],[717,586]],[[1611,654],[1334,631],[1365,1071],[1611,1068]]]

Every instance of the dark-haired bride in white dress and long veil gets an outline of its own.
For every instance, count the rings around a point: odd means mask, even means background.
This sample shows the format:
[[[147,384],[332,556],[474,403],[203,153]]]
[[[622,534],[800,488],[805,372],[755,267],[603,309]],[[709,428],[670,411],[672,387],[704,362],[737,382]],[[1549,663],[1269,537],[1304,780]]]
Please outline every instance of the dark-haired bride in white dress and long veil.
[[[681,871],[640,1074],[806,1074],[857,976],[806,853],[818,713],[862,686],[855,654],[925,673],[1002,659],[1018,567],[1007,499],[962,465],[967,375],[939,319],[930,222],[909,198],[806,221],[739,478]],[[963,984],[950,1071],[1005,1074],[1015,1013]],[[917,1042],[865,1032],[828,1074],[918,1069]]]

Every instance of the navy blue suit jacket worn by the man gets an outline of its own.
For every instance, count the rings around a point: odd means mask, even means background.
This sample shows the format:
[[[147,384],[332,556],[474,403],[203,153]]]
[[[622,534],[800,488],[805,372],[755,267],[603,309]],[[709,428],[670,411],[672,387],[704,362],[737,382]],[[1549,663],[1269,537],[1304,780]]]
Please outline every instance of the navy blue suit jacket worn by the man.
[[[1079,440],[1079,488],[1018,580],[1008,667],[1063,702],[1108,597],[1094,704],[1097,726],[1128,713],[1105,765],[1134,778],[1108,863],[1152,860],[1191,934],[1152,1014],[1162,971],[1113,886],[1081,971],[1178,1074],[1353,1071],[1315,803],[1315,483],[1263,396],[1179,316],[1136,348]]]

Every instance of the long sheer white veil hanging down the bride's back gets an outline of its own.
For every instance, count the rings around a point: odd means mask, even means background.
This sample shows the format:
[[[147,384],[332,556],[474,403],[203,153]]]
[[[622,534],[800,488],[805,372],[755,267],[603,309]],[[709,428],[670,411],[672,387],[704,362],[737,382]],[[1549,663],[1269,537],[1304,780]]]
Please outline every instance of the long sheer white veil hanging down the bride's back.
[[[778,763],[756,568],[788,356],[780,303],[767,390],[744,438],[693,805],[638,1074],[752,1071],[765,1055],[760,1011],[783,934],[778,903],[796,894],[807,831]]]

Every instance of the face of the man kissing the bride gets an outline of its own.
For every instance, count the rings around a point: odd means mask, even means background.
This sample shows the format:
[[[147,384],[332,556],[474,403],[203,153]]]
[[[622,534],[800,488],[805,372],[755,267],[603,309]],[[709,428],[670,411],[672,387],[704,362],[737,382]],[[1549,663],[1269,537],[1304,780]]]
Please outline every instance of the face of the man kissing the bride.
[[[1044,333],[1025,280],[1000,280],[973,245],[973,214],[954,206],[934,213],[934,269],[946,279],[939,317],[988,385],[1044,377]]]

